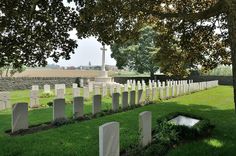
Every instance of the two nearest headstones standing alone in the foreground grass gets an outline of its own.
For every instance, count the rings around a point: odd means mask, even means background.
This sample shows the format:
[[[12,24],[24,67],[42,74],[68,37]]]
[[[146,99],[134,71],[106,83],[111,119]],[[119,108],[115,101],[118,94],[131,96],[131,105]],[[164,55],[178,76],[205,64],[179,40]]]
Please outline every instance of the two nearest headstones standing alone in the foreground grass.
[[[145,111],[139,114],[140,145],[147,146],[152,142],[152,113]],[[99,156],[120,155],[120,124],[109,122],[99,127]]]

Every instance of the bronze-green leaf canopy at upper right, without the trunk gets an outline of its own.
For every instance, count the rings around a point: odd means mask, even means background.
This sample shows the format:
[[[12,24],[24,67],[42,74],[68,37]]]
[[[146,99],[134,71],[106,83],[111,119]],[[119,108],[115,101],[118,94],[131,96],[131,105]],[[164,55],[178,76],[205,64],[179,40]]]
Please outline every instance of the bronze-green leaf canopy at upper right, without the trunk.
[[[166,74],[187,75],[199,66],[207,71],[231,63],[226,14],[214,9],[221,5],[214,0],[76,2],[80,13],[76,25],[79,37],[92,35],[101,42],[121,45],[137,40],[143,24],[156,25],[157,32],[162,29],[157,38],[161,42],[156,42],[156,47],[161,47],[156,62],[161,63]],[[205,13],[208,9],[211,11]],[[204,14],[199,16],[199,12]],[[113,55],[118,58],[121,54],[116,51]],[[124,58],[119,56],[118,66],[127,62]]]

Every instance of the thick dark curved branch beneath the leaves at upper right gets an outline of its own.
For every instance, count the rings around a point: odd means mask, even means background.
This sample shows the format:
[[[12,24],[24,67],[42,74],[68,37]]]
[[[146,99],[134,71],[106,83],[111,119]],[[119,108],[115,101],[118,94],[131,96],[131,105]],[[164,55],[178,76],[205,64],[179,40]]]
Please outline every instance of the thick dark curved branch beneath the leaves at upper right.
[[[224,6],[225,6],[225,0],[219,0],[214,6],[210,7],[209,9],[199,12],[199,13],[161,13],[157,11],[153,11],[153,16],[158,16],[160,19],[165,18],[180,18],[184,19],[186,21],[195,21],[195,20],[203,20],[203,19],[209,19],[210,17],[217,16],[221,13],[224,13]],[[150,12],[150,11],[149,11]]]

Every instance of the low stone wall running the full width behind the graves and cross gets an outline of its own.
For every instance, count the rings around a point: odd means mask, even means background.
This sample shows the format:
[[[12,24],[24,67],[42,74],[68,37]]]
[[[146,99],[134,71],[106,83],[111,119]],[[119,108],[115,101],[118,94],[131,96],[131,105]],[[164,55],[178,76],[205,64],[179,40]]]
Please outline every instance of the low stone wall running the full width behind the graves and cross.
[[[22,77],[22,78],[0,78],[0,91],[11,91],[11,90],[25,90],[31,89],[32,85],[39,85],[40,89],[43,88],[43,85],[49,84],[53,88],[55,84],[65,84],[67,87],[71,87],[72,83],[79,84],[79,77],[37,77],[37,78],[29,78],[29,77]],[[84,83],[87,82],[88,78],[83,78]],[[93,78],[89,78],[91,81]],[[144,80],[148,83],[150,77],[114,77],[114,81],[117,83],[125,84],[127,80],[134,79],[136,81]],[[156,80],[165,81],[165,80],[183,80],[182,78],[178,77],[168,77],[165,75],[156,75]],[[220,85],[232,85],[233,78],[232,76],[190,76],[185,80],[193,80],[194,82],[202,82],[202,81],[212,81],[218,80]]]

